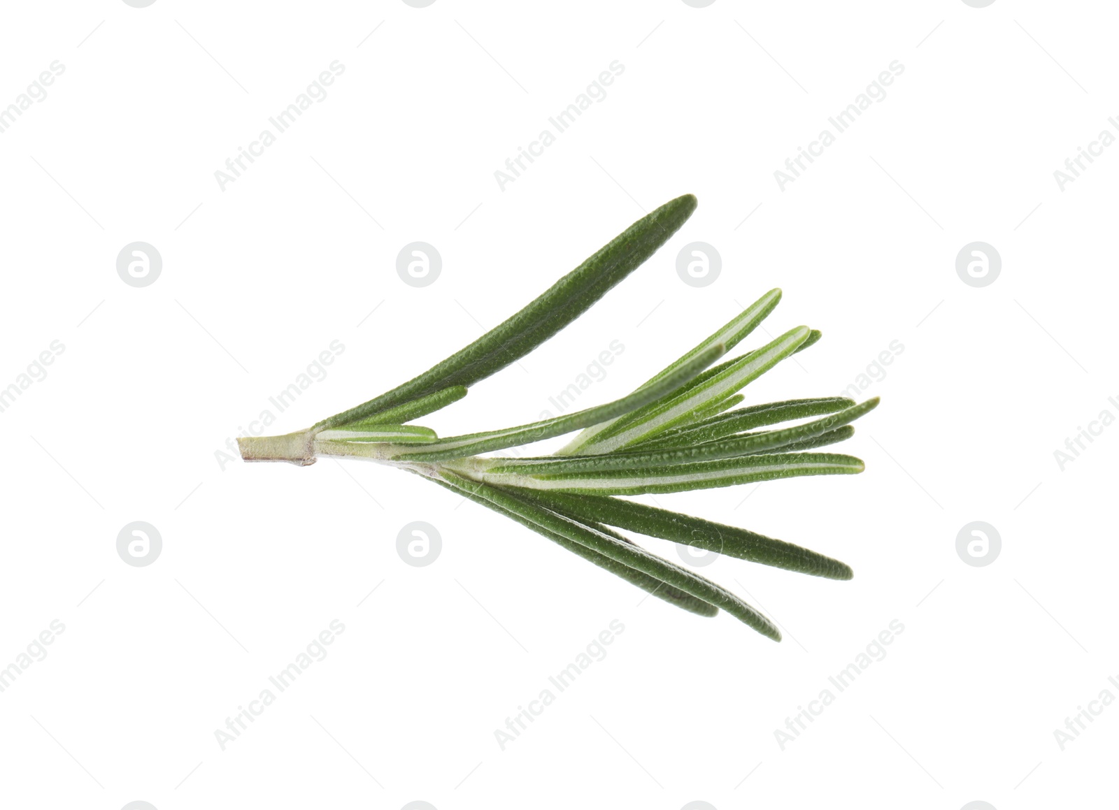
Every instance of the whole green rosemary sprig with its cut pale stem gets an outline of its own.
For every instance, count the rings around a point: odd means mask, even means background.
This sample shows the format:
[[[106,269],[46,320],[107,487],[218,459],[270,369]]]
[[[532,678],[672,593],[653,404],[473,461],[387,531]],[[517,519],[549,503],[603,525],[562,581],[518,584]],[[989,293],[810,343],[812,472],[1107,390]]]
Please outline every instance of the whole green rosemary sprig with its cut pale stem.
[[[414,472],[666,602],[708,616],[723,609],[780,641],[777,627],[754,608],[617,531],[814,576],[852,577],[850,567],[810,549],[618,497],[863,471],[859,459],[815,451],[850,437],[850,423],[873,409],[877,397],[857,405],[845,397],[820,397],[736,407],[743,402],[739,393],[743,387],[820,338],[819,331],[797,327],[761,348],[723,360],[777,307],[780,290],[762,295],[615,402],[517,427],[443,439],[429,427],[406,424],[461,399],[469,386],[579,318],[665,244],[695,207],[696,198],[686,195],[639,219],[520,312],[388,393],[305,431],[239,439],[242,458],[301,465],[320,455],[368,459]],[[809,421],[772,427],[797,420]],[[480,456],[575,431],[580,433],[552,455]]]

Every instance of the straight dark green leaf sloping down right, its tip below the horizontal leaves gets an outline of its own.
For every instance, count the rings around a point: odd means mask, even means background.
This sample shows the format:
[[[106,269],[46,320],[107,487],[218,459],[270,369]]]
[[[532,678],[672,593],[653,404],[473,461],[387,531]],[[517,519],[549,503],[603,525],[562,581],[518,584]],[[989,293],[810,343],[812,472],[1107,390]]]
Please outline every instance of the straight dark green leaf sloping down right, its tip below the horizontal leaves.
[[[574,519],[608,524],[752,563],[828,580],[850,580],[854,576],[849,565],[809,548],[668,509],[589,495],[536,490],[524,490],[520,495]]]

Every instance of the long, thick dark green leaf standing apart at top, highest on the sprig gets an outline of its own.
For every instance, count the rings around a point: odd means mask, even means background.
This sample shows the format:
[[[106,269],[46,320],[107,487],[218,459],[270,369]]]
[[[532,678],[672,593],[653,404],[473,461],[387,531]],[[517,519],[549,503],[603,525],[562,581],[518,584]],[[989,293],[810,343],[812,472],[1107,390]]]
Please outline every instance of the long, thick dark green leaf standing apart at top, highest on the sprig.
[[[695,208],[696,198],[693,195],[666,202],[638,219],[544,294],[478,340],[419,377],[323,420],[314,428],[337,427],[364,420],[453,385],[473,385],[520,359],[637,270],[676,233]]]

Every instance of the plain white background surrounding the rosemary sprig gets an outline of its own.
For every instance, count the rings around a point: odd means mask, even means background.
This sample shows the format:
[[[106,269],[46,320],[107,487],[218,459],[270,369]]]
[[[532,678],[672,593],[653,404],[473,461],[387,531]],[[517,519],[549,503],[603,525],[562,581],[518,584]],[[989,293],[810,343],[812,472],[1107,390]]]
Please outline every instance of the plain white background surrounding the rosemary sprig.
[[[7,3],[0,104],[65,72],[0,134],[0,384],[65,350],[0,414],[0,666],[53,620],[65,632],[0,694],[0,804],[1115,807],[1119,708],[1054,738],[1119,697],[1119,427],[1054,459],[1119,415],[1119,150],[1063,191],[1053,177],[1119,113],[1111,11]],[[215,170],[333,60],[328,97],[222,190]],[[606,97],[501,190],[495,170],[613,60]],[[782,191],[774,170],[893,60],[886,97]],[[643,267],[424,423],[535,420],[612,340],[580,407],[617,398],[774,286],[767,329],[825,338],[747,402],[837,394],[900,341],[866,390],[881,407],[837,449],[864,474],[658,497],[854,567],[703,568],[782,643],[639,604],[387,468],[219,463],[332,340],[344,354],[271,432],[425,369],[685,192],[698,210]],[[115,267],[135,241],[163,260],[142,289]],[[443,260],[423,289],[395,269],[414,241]],[[722,255],[706,288],[675,270],[693,241]],[[1003,261],[981,289],[956,272],[974,241]],[[162,536],[147,567],[116,553],[135,520]],[[442,537],[426,567],[396,552],[413,520]],[[985,567],[956,552],[974,520],[1002,536]],[[215,731],[336,619],[327,658],[223,751]],[[615,619],[609,654],[502,751],[495,731]],[[888,654],[782,750],[774,731],[892,620]]]

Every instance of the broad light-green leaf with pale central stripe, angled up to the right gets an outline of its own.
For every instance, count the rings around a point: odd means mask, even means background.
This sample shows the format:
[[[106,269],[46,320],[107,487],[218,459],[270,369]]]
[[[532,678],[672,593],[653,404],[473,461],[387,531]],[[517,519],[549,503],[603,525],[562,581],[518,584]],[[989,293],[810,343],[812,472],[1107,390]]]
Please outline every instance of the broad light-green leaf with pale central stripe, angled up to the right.
[[[618,420],[605,431],[584,442],[582,452],[610,453],[679,426],[690,418],[696,408],[736,394],[750,382],[791,355],[805,342],[809,331],[808,327],[790,329],[761,349],[739,358],[718,374]]]

